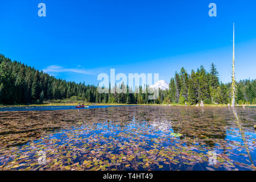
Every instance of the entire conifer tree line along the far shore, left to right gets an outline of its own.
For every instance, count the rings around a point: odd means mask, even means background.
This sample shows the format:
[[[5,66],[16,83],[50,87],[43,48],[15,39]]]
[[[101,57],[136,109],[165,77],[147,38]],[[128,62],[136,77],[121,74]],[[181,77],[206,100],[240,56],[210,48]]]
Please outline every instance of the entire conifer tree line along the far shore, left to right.
[[[123,87],[124,85],[121,85]],[[0,55],[0,103],[32,104],[44,101],[64,100],[78,97],[84,102],[104,104],[188,104],[200,101],[205,104],[228,104],[231,101],[231,84],[219,81],[214,64],[207,72],[203,66],[188,74],[184,68],[171,78],[168,90],[158,90],[156,100],[148,100],[150,93],[139,86],[129,93],[98,93],[97,86],[57,79],[35,68]],[[146,93],[142,92],[146,89]],[[237,103],[255,104],[256,80],[237,82]]]

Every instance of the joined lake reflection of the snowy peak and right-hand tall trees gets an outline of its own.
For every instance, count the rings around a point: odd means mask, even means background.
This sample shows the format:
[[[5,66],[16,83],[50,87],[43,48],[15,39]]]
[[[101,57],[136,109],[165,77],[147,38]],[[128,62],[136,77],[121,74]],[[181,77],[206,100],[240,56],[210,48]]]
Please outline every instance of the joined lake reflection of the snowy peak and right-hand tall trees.
[[[137,121],[146,121],[156,130],[174,130],[191,139],[199,139],[209,147],[226,137],[226,114],[219,108],[199,107],[138,107]],[[222,108],[223,109],[223,108]],[[143,123],[142,123],[143,124]]]

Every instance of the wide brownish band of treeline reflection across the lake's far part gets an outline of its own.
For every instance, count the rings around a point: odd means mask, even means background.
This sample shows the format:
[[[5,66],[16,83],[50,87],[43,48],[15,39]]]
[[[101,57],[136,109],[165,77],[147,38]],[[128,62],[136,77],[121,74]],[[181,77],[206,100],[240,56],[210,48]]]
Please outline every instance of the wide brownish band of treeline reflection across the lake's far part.
[[[225,139],[225,127],[228,125],[225,109],[200,107],[165,107],[165,106],[123,106],[100,109],[59,110],[59,111],[22,111],[5,113],[0,116],[2,143],[15,144],[11,140],[32,140],[45,135],[48,129],[70,129],[84,126],[92,130],[109,131],[131,129],[149,129],[152,132],[166,131],[171,127],[175,133],[183,134],[191,139],[199,139],[213,147],[218,139]],[[230,109],[231,110],[231,109]],[[230,112],[229,112],[230,113]],[[230,118],[230,115],[228,115]],[[81,123],[83,123],[81,125]],[[2,125],[3,124],[3,125]],[[104,127],[102,127],[104,126]],[[30,131],[28,131],[28,129]],[[152,129],[152,130],[151,130]],[[241,129],[242,130],[242,129]],[[13,133],[22,131],[21,133]],[[133,132],[133,131],[132,131]],[[1,132],[0,132],[1,133]],[[34,134],[34,136],[33,136]],[[131,133],[133,134],[133,133]],[[0,136],[1,137],[1,136]],[[20,138],[22,137],[22,138]]]

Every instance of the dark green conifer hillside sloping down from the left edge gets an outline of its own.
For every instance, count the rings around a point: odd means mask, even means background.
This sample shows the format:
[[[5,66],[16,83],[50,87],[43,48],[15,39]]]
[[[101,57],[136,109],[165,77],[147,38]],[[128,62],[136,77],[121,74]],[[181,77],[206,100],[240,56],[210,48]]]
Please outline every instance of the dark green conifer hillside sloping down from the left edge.
[[[95,102],[96,86],[56,79],[0,55],[0,103],[28,104],[84,96]]]

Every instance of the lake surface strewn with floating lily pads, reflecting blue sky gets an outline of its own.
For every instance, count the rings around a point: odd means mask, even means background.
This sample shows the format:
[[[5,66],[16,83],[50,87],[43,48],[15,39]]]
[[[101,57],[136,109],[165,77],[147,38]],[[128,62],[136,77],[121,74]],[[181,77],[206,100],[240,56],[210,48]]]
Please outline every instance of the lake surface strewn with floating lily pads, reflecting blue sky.
[[[255,107],[60,107],[0,111],[0,170],[255,170]]]

